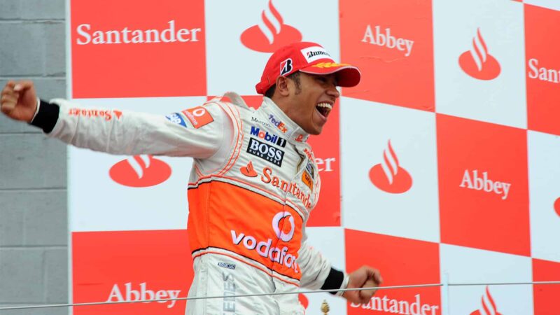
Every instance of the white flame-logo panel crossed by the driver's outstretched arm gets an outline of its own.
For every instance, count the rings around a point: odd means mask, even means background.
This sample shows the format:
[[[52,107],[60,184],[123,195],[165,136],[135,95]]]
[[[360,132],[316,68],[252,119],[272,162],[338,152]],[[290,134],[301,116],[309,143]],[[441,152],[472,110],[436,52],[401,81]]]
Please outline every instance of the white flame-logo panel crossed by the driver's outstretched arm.
[[[85,107],[95,105],[166,116],[204,104],[205,99],[80,99],[78,102]],[[71,231],[186,228],[186,183],[193,159],[109,155],[74,147],[69,147],[68,154]]]

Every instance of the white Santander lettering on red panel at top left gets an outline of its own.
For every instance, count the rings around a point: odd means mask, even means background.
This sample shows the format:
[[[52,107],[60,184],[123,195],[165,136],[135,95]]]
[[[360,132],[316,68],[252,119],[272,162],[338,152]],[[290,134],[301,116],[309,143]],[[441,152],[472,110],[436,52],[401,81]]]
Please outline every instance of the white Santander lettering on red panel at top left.
[[[109,29],[92,30],[89,24],[80,24],[76,28],[78,45],[100,44],[136,44],[136,43],[174,43],[179,41],[198,41],[197,35],[202,29],[176,29],[175,20],[167,22],[165,29]]]

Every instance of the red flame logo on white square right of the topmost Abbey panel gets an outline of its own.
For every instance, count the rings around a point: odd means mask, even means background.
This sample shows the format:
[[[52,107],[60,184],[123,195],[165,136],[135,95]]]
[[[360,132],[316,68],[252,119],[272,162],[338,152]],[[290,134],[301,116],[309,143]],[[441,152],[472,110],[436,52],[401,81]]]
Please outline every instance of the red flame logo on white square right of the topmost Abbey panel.
[[[477,29],[477,36],[472,38],[471,50],[463,52],[459,57],[459,65],[472,78],[492,80],[500,75],[500,63],[488,53],[488,48]]]

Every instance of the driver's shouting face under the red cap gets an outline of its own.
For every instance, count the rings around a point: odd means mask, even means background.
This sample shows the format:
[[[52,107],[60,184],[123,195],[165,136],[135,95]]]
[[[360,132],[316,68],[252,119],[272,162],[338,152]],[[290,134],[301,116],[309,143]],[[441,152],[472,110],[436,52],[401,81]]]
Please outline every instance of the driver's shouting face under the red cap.
[[[332,107],[340,93],[335,74],[300,73],[300,89],[292,80],[290,106],[287,114],[309,134],[321,134]]]

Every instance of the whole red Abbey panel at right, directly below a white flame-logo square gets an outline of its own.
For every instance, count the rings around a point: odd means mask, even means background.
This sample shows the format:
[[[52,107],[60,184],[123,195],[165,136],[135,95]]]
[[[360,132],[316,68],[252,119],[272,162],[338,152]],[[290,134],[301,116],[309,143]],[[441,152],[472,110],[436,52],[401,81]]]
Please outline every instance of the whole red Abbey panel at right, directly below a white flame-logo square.
[[[442,242],[530,255],[526,131],[436,120]]]

